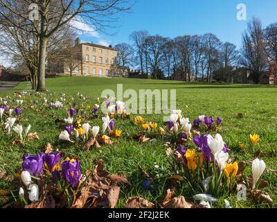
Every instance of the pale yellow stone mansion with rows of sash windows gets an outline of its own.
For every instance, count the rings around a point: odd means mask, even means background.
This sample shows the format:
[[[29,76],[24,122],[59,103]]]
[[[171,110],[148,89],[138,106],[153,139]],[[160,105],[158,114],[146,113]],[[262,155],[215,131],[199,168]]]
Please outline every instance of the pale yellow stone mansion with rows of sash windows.
[[[78,41],[78,40],[76,40]],[[116,66],[117,51],[111,46],[101,46],[93,43],[75,42],[81,51],[80,65],[73,71],[73,75],[92,77],[120,77]],[[69,74],[70,69],[64,67],[64,74]]]

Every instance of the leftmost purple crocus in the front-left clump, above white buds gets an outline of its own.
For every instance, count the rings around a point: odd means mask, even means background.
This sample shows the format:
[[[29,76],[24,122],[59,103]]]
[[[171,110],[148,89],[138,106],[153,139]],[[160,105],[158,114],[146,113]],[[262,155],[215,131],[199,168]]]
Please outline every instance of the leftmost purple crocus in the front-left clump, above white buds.
[[[32,176],[37,176],[37,174],[42,173],[42,166],[44,164],[43,156],[44,153],[42,152],[37,155],[25,153],[22,158],[22,169],[28,171]]]

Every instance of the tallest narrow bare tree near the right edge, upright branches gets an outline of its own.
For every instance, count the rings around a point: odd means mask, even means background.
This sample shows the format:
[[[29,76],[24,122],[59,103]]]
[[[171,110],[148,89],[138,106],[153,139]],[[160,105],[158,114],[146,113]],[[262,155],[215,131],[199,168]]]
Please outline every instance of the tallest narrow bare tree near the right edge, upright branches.
[[[267,53],[260,19],[253,17],[242,37],[242,64],[251,70],[254,82],[260,83],[262,72],[267,69]]]

